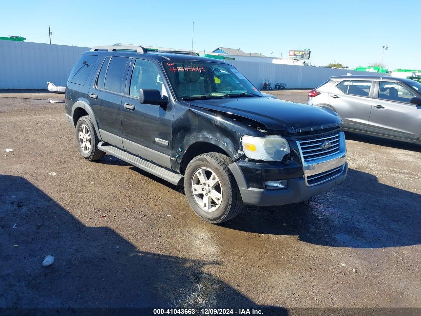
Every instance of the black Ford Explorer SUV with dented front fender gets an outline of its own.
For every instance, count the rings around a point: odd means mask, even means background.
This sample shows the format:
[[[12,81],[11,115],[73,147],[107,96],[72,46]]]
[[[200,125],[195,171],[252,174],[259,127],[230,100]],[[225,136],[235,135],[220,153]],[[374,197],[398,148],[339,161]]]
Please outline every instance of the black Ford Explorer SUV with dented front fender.
[[[232,65],[193,52],[101,46],[70,73],[66,116],[87,160],[118,157],[172,184],[195,213],[283,205],[341,183],[341,119],[264,97]]]

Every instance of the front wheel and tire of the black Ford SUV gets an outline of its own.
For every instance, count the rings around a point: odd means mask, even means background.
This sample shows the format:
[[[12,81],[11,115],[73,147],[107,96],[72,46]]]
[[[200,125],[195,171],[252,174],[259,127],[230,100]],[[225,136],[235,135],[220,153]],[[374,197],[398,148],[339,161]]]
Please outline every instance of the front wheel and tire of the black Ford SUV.
[[[209,223],[228,221],[240,212],[243,201],[233,174],[232,160],[220,153],[195,157],[184,174],[184,191],[190,207]]]

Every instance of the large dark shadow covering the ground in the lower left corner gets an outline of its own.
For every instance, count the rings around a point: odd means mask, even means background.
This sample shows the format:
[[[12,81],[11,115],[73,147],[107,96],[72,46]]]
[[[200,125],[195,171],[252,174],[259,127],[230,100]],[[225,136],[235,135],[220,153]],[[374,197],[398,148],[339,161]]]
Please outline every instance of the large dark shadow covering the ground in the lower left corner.
[[[24,178],[0,175],[0,205],[0,307],[259,307],[202,270],[221,263],[137,249]]]

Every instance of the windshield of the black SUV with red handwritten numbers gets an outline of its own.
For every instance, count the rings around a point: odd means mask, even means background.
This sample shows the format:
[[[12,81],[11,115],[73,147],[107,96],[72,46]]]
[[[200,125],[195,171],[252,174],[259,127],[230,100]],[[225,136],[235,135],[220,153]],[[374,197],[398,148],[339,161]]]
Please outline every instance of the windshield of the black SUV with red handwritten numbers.
[[[259,90],[229,64],[189,60],[162,64],[179,100],[262,97]]]

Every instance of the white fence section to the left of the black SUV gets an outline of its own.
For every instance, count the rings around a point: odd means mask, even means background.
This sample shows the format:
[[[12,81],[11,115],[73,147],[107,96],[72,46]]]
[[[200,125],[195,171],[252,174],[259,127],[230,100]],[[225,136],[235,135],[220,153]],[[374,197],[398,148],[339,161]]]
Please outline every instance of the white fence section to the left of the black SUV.
[[[86,47],[0,40],[0,89],[46,89],[47,81],[65,86]]]

